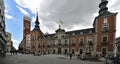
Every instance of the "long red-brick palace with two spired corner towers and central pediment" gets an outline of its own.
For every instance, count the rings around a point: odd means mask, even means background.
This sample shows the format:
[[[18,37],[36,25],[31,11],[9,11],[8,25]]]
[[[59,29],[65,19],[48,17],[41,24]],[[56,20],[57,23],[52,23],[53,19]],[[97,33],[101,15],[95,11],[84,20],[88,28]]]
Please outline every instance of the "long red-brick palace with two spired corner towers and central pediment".
[[[108,11],[107,0],[101,0],[99,15],[93,21],[93,28],[65,31],[59,26],[54,34],[43,34],[38,15],[35,28],[31,31],[31,50],[47,54],[113,54],[116,15]]]

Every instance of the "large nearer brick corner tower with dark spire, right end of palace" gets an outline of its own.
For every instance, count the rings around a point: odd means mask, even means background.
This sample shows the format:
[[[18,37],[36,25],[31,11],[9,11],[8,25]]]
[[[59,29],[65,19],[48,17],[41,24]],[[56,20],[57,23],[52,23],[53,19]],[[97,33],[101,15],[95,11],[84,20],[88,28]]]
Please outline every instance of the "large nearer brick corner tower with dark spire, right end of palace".
[[[101,0],[99,15],[95,18],[93,24],[96,32],[95,51],[103,55],[113,53],[116,33],[117,13],[109,12],[107,4],[107,0]]]

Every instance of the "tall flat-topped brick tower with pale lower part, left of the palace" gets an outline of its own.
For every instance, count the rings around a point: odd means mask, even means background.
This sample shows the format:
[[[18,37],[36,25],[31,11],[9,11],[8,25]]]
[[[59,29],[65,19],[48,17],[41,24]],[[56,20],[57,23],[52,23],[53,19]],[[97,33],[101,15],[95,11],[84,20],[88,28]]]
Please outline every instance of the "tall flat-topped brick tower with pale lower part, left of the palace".
[[[23,40],[19,44],[19,51],[24,52],[29,50],[29,37],[30,37],[30,29],[31,29],[30,18],[28,16],[24,16],[23,18]]]

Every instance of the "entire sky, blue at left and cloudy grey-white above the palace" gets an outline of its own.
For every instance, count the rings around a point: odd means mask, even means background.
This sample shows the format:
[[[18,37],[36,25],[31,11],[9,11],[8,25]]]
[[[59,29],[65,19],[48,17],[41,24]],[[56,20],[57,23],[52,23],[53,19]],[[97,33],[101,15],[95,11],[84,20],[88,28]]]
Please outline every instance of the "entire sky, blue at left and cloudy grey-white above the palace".
[[[98,15],[101,0],[4,0],[6,31],[12,34],[17,48],[23,39],[23,16],[31,18],[31,30],[34,28],[36,12],[39,13],[41,30],[54,33],[63,21],[66,31],[93,27],[93,20]],[[120,36],[120,0],[108,0],[108,10],[118,12],[116,37]]]

